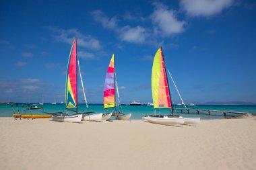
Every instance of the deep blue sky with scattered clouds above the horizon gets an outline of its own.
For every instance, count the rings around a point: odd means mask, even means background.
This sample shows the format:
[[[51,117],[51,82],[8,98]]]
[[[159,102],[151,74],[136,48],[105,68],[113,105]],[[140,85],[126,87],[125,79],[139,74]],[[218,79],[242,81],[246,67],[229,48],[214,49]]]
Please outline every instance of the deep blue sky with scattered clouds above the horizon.
[[[76,36],[89,103],[102,103],[113,53],[121,102],[152,101],[152,62],[160,46],[185,103],[256,103],[255,21],[253,0],[3,0],[0,101],[40,102],[42,95],[44,102],[65,101]]]

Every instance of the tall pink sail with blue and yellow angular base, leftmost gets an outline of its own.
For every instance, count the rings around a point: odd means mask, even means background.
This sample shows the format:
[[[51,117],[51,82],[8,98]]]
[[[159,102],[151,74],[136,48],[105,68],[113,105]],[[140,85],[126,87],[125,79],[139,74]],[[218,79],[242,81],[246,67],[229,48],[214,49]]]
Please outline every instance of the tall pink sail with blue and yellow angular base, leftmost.
[[[69,61],[67,62],[66,77],[66,108],[77,108],[77,49],[76,38],[73,41]]]

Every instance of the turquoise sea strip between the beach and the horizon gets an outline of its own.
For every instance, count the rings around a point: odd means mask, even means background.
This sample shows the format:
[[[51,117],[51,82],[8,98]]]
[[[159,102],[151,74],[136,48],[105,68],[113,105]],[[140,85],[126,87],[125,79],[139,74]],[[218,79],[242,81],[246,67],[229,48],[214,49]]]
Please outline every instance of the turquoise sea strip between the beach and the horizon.
[[[25,105],[25,104],[24,104]],[[32,105],[30,103],[30,105]],[[27,106],[27,105],[26,105]],[[18,108],[16,105],[13,105],[13,109],[15,114],[18,114],[18,109],[20,114],[30,114],[29,110],[26,110],[26,106],[22,108],[22,103],[19,104]],[[65,104],[56,104],[52,105],[50,103],[44,103],[44,105],[37,105],[38,107],[43,107],[43,110],[32,110],[32,114],[45,114],[45,112],[67,112],[68,114],[73,114],[73,112],[65,109]],[[104,113],[102,104],[89,104],[90,110],[100,113]],[[142,116],[146,116],[149,114],[154,114],[153,105],[122,105],[121,108],[125,114],[132,113],[131,120],[140,120]],[[174,105],[173,108],[184,108],[182,105]],[[223,111],[233,111],[233,112],[249,112],[256,114],[256,105],[195,105],[195,106],[187,106],[187,108],[193,109],[202,109],[202,110],[223,110]],[[85,104],[79,104],[78,106],[79,112],[86,111]],[[109,109],[108,112],[112,110]],[[168,115],[170,110],[162,109],[161,114]],[[159,113],[159,110],[156,111],[156,114]],[[190,111],[187,114],[186,111],[183,111],[185,114],[181,114],[179,110],[175,112],[175,114],[179,114],[183,117],[200,117],[201,119],[222,119],[224,118],[222,113],[211,112],[210,116],[207,112],[192,112]],[[13,110],[10,104],[0,104],[0,117],[11,117],[13,115]],[[237,116],[235,114],[227,114],[227,116]]]

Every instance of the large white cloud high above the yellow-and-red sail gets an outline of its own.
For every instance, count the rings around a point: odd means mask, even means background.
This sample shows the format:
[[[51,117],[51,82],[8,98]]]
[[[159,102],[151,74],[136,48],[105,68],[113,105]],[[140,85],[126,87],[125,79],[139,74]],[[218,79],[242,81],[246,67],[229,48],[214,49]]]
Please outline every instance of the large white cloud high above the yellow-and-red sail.
[[[155,10],[150,16],[154,24],[154,33],[162,36],[179,34],[185,30],[185,21],[179,21],[175,11],[162,3],[154,3]]]

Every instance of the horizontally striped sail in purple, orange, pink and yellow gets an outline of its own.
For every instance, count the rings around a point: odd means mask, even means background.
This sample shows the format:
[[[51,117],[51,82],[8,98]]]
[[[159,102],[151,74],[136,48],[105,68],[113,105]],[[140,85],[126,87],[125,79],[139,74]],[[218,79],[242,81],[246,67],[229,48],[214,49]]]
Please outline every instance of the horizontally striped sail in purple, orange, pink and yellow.
[[[115,54],[113,54],[106,71],[104,84],[104,109],[115,107]]]

